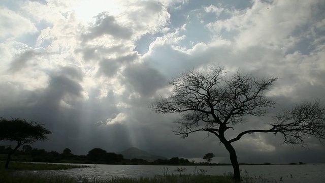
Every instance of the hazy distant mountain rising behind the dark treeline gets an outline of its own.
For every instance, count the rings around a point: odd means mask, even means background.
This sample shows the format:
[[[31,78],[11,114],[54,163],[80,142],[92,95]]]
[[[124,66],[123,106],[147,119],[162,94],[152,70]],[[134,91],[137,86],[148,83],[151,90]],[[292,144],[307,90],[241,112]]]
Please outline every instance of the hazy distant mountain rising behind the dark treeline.
[[[123,150],[117,154],[121,154],[123,155],[123,157],[125,159],[143,159],[143,160],[147,160],[149,162],[152,162],[154,160],[157,159],[162,159],[162,160],[166,160],[167,158],[165,157],[161,157],[161,156],[156,156],[156,155],[151,155],[150,153],[148,153],[147,151],[138,149],[137,147],[130,147],[126,150]]]

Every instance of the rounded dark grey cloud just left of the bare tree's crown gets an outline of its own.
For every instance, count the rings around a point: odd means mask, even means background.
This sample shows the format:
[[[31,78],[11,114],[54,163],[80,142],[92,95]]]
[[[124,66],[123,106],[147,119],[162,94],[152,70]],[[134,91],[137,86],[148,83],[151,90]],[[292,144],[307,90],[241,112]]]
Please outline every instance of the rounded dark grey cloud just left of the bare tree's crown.
[[[146,64],[135,64],[127,67],[123,75],[143,97],[152,96],[157,89],[166,86],[167,79],[159,71]]]

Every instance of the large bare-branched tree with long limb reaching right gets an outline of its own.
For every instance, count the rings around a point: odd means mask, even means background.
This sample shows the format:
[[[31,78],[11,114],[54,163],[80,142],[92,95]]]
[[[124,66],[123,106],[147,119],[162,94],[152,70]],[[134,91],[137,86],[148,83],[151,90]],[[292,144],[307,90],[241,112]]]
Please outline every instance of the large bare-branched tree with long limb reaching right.
[[[181,113],[174,121],[177,135],[205,131],[214,134],[230,155],[234,179],[240,180],[240,170],[233,142],[245,134],[280,133],[284,142],[303,144],[307,136],[325,139],[325,108],[319,101],[302,102],[292,109],[283,110],[274,117],[268,129],[252,129],[227,138],[225,132],[236,124],[246,123],[244,116],[264,116],[275,102],[265,96],[277,78],[259,78],[236,73],[227,76],[223,67],[211,67],[208,71],[188,70],[169,84],[172,94],[153,102],[149,107],[157,113]]]

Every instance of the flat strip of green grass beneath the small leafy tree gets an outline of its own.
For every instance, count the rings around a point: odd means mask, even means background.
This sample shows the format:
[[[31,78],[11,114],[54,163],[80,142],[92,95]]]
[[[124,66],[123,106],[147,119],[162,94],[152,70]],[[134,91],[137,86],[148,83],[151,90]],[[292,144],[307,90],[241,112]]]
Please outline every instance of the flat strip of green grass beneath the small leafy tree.
[[[5,167],[5,162],[0,162],[0,170]],[[23,162],[10,162],[9,170],[67,170],[72,168],[84,168],[88,166],[76,165],[61,165],[51,163],[23,163]],[[0,181],[1,182],[1,181]]]

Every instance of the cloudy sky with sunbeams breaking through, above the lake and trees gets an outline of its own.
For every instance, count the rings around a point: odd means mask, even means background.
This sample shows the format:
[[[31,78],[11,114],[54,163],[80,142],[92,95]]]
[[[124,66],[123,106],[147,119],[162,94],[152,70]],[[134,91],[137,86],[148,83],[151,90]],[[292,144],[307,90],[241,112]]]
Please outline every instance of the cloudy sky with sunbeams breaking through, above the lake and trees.
[[[166,97],[168,81],[188,69],[224,66],[278,77],[266,94],[277,104],[244,129],[268,129],[271,117],[301,101],[325,103],[325,2],[194,0],[2,0],[0,117],[38,121],[52,131],[32,147],[85,155],[95,147],[138,147],[167,158],[229,162],[213,134],[182,139],[179,114],[148,104]],[[239,162],[325,163],[325,147],[281,135],[245,135]],[[2,142],[9,145],[9,142]]]

